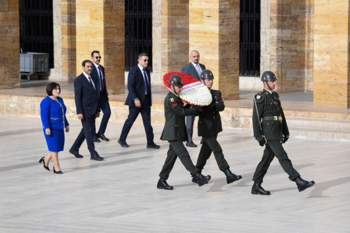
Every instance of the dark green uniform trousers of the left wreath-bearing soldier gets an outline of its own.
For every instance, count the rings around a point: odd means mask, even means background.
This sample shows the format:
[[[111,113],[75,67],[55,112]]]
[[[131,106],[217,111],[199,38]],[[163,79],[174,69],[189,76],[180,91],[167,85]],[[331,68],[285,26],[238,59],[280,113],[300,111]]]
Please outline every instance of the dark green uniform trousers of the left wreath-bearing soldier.
[[[169,150],[167,151],[167,156],[159,173],[159,177],[163,179],[167,179],[169,177],[177,157],[192,176],[197,173],[199,170],[193,165],[191,157],[189,156],[187,149],[184,147],[183,142],[180,140],[171,140],[168,142]]]

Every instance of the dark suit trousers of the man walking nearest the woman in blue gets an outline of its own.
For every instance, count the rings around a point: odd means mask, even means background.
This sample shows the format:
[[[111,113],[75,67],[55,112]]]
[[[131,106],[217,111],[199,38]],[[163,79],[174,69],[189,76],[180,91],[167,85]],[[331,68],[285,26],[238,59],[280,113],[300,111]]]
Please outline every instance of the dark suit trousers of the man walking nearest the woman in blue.
[[[93,143],[92,139],[93,117],[95,117],[94,114],[84,115],[84,117],[81,119],[82,129],[80,130],[70,149],[79,151],[82,142],[84,142],[84,140],[86,139],[87,148],[90,152],[90,155],[92,156],[97,153],[95,150],[95,144]]]

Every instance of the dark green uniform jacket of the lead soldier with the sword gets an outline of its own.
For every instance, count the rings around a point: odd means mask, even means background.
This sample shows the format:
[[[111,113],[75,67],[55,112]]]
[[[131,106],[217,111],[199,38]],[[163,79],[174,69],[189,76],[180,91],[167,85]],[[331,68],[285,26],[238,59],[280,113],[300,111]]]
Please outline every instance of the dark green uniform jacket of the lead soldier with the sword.
[[[260,118],[257,117],[255,103],[253,103],[253,116],[252,116],[253,132],[254,132],[254,137],[258,137],[261,135],[259,123],[263,116],[280,115],[282,116],[282,121],[263,120],[262,131],[263,131],[263,135],[265,135],[266,137],[266,140],[283,141],[283,135],[288,135],[289,130],[288,130],[287,122],[285,121],[285,118],[284,118],[283,109],[279,101],[279,95],[276,92],[274,92],[274,94],[277,98],[277,104],[281,114],[279,114],[277,106],[273,103],[274,102],[273,97],[268,91],[263,89],[259,93],[255,94],[256,106],[257,106],[257,110],[259,112]]]

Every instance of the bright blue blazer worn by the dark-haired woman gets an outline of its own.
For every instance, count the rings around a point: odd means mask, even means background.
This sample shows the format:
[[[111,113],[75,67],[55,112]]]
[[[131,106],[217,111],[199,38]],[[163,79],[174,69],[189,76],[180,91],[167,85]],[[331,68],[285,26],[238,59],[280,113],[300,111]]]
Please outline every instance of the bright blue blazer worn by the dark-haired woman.
[[[43,128],[63,129],[68,124],[65,112],[67,108],[63,99],[57,96],[57,100],[48,95],[40,102],[40,117]]]

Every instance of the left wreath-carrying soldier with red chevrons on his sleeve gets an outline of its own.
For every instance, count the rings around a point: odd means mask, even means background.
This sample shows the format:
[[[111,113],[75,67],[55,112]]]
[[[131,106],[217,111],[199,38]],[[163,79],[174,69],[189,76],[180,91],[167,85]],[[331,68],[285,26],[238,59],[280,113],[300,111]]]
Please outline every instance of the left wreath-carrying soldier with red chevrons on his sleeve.
[[[199,186],[207,183],[211,178],[210,175],[203,176],[199,169],[195,167],[189,156],[187,149],[183,145],[183,141],[187,140],[186,125],[184,117],[187,115],[198,115],[202,110],[200,106],[188,108],[189,104],[183,107],[183,102],[178,97],[182,90],[182,79],[179,75],[173,74],[168,81],[171,91],[164,99],[164,115],[165,125],[160,139],[169,142],[169,150],[165,159],[163,168],[159,173],[157,188],[172,189],[168,185],[166,179],[169,177],[172,167],[178,157],[184,167],[190,172]]]

